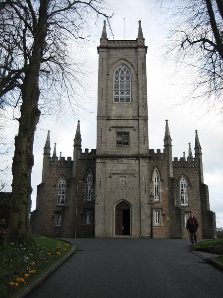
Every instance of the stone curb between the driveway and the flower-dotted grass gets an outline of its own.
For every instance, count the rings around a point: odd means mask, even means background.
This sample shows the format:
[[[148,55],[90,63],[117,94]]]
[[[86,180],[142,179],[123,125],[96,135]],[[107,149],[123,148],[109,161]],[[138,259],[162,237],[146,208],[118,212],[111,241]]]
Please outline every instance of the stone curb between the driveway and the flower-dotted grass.
[[[44,273],[42,273],[39,277],[35,279],[35,281],[30,282],[27,286],[23,289],[18,291],[17,293],[10,296],[10,298],[24,298],[28,295],[31,291],[33,291],[37,286],[39,286],[48,276],[50,276],[64,261],[66,261],[69,257],[71,257],[76,251],[76,245],[72,244],[71,250],[60,260],[50,266]]]

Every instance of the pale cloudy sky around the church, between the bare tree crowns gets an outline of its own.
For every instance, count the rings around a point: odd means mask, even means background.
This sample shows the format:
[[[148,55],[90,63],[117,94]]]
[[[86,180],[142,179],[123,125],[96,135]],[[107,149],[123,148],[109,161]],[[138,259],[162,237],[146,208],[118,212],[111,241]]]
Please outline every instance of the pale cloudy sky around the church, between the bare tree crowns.
[[[168,24],[158,7],[152,0],[108,0],[114,8],[111,19],[111,28],[114,39],[137,38],[138,21],[141,20],[147,51],[147,95],[148,95],[148,128],[149,148],[164,149],[164,134],[166,119],[168,120],[170,136],[172,139],[172,157],[182,157],[183,152],[188,155],[188,143],[191,143],[194,155],[195,130],[198,131],[202,147],[204,183],[209,186],[210,209],[216,213],[217,227],[223,227],[223,115],[210,111],[205,104],[196,101],[182,102],[187,93],[188,79],[175,68],[174,61],[164,58],[166,52],[166,36]],[[57,122],[51,117],[40,120],[34,142],[34,167],[32,171],[32,210],[36,207],[37,185],[41,183],[43,148],[47,132],[51,131],[51,152],[54,143],[56,153],[67,158],[73,158],[73,140],[75,137],[77,120],[80,120],[82,150],[96,149],[96,116],[97,116],[97,78],[98,54],[97,46],[103,28],[103,20],[92,24],[92,42],[85,50],[78,54],[90,70],[88,83],[91,87],[84,109],[77,111],[74,118],[64,115]],[[108,38],[113,39],[109,28]],[[10,126],[8,142],[13,143],[16,127]],[[10,163],[13,156],[13,147],[8,155],[8,179],[10,181]],[[5,191],[10,191],[10,182]]]

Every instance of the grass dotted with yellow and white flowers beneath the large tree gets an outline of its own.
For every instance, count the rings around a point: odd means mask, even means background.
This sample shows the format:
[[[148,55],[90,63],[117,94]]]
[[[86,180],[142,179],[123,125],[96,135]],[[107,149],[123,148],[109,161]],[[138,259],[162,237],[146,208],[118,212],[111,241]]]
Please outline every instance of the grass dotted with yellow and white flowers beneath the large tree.
[[[0,298],[10,297],[63,257],[72,245],[35,237],[37,247],[14,243],[0,246]]]

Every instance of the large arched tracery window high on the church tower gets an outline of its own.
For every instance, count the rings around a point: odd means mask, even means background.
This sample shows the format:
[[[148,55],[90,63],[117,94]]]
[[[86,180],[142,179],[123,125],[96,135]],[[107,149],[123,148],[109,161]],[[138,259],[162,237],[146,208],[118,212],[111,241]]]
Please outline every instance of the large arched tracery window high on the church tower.
[[[114,102],[131,102],[131,74],[123,64],[114,72]]]

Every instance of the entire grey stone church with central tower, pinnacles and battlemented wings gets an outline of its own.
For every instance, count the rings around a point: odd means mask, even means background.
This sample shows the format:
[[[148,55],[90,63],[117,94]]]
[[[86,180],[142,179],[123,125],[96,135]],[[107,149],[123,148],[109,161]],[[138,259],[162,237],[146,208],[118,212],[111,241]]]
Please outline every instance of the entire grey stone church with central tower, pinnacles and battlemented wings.
[[[34,234],[53,237],[186,238],[190,212],[198,238],[216,238],[204,184],[202,150],[172,158],[166,120],[164,149],[149,149],[145,39],[109,40],[106,21],[98,47],[96,149],[81,149],[77,123],[72,157],[51,156],[50,132],[43,153],[42,183]]]

